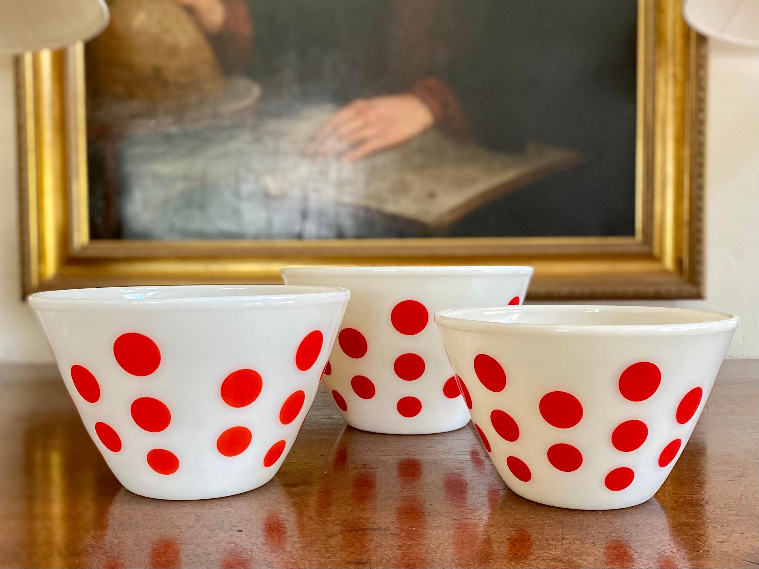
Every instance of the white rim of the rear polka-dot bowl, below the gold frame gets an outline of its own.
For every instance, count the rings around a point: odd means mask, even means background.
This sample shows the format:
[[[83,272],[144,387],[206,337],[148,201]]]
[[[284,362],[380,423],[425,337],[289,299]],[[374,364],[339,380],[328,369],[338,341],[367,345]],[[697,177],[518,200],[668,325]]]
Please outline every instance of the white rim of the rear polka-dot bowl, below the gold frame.
[[[469,277],[469,276],[529,276],[534,269],[526,265],[480,266],[308,266],[285,267],[283,277],[342,276],[342,277]]]

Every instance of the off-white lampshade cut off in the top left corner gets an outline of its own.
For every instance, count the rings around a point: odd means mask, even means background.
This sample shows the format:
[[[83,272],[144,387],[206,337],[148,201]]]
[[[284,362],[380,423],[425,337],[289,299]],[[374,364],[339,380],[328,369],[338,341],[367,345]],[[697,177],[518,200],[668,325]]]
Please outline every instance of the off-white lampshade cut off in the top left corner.
[[[103,0],[0,0],[0,53],[61,48],[108,25]]]

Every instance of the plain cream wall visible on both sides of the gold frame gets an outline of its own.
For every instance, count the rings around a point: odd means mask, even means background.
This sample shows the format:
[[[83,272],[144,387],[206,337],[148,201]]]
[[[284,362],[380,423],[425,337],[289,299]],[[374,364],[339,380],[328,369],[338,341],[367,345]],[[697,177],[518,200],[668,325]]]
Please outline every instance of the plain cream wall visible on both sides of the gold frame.
[[[657,302],[733,313],[729,357],[759,356],[759,52],[710,41],[706,300]],[[47,361],[19,291],[14,73],[0,57],[0,360]]]

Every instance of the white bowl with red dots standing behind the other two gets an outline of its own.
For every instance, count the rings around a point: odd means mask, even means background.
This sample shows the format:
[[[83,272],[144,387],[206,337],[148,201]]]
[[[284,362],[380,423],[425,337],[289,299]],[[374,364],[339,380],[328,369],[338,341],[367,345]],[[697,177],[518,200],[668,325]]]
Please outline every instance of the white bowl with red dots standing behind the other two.
[[[519,304],[532,267],[305,267],[289,285],[351,290],[324,382],[348,425],[418,435],[469,422],[432,321],[452,307]]]

